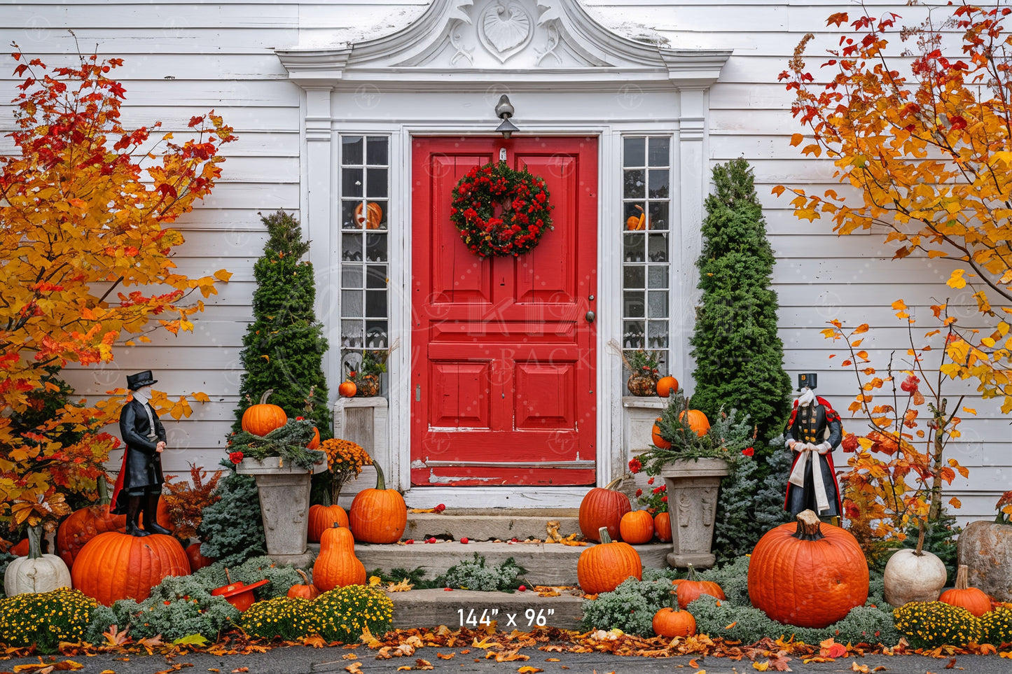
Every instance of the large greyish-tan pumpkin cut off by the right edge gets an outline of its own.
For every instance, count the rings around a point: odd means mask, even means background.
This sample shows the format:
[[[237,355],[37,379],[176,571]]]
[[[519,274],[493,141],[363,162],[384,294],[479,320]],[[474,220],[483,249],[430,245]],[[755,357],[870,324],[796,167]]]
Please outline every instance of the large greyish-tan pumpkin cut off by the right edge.
[[[1012,524],[971,522],[959,533],[956,554],[972,587],[1012,601]]]

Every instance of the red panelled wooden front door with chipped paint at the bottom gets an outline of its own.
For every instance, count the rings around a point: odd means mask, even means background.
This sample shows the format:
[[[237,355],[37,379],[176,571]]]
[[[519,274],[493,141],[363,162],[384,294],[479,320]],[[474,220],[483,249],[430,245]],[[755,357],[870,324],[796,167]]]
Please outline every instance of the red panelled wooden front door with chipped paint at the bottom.
[[[503,148],[545,179],[555,229],[480,258],[450,192]],[[412,484],[594,484],[597,139],[418,138],[411,198]]]

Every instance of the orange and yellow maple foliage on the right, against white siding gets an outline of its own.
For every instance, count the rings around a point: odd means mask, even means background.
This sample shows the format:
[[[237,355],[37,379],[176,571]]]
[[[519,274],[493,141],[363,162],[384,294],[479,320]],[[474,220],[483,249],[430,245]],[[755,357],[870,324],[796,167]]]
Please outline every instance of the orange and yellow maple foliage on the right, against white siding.
[[[934,14],[950,15],[936,25]],[[984,331],[952,327],[945,344],[952,378],[976,377],[985,398],[1002,399],[1012,412],[1012,36],[1005,21],[1012,9],[998,4],[932,8],[914,28],[901,17],[878,19],[861,6],[856,18],[831,15],[827,25],[849,24],[839,47],[822,64],[830,79],[817,83],[806,70],[809,33],[779,79],[796,94],[793,116],[811,136],[794,134],[791,145],[806,156],[833,159],[835,176],[856,188],[856,197],[836,190],[822,195],[791,192],[794,216],[814,221],[825,214],[843,235],[877,228],[898,242],[895,259],[915,251],[928,259],[949,258],[947,284],[968,287]],[[947,58],[942,30],[961,37],[961,58]],[[893,36],[913,41],[907,74],[887,56]],[[968,301],[968,299],[967,299]],[[955,323],[954,318],[949,323]]]

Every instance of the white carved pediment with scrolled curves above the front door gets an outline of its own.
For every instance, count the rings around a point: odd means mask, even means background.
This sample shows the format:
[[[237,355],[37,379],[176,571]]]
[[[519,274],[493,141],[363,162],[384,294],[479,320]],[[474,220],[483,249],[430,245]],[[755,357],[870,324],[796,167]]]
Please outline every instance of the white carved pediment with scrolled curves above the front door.
[[[660,38],[658,43],[661,43]],[[675,50],[623,37],[595,21],[577,0],[434,0],[405,28],[345,48],[277,50],[291,79],[304,82],[446,78],[573,82],[684,81],[706,86],[730,52]]]

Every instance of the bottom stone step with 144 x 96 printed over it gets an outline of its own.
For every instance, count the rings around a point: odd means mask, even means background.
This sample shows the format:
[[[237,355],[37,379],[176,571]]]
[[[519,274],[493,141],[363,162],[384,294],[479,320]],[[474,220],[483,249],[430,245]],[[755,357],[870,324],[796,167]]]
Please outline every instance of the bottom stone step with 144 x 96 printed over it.
[[[580,629],[583,599],[563,592],[539,597],[535,592],[476,592],[474,590],[411,590],[391,592],[394,627],[482,627],[495,620],[499,629],[530,631],[538,625]],[[486,622],[481,620],[483,616]]]

